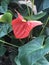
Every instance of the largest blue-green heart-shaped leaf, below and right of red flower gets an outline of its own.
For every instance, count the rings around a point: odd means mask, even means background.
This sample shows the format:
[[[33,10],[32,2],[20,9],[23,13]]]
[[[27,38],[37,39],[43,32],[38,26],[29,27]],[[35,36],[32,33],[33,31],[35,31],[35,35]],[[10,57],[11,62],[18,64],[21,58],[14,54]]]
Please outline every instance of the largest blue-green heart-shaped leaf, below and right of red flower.
[[[37,37],[30,41],[26,45],[19,48],[19,54],[15,58],[17,65],[33,65],[47,52],[49,52],[49,46],[43,45],[44,37]]]

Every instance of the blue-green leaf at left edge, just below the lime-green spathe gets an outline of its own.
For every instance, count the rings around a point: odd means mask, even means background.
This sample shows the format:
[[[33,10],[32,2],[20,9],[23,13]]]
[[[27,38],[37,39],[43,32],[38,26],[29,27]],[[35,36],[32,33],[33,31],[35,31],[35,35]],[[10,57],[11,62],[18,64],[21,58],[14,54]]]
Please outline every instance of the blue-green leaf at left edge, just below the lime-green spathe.
[[[11,25],[8,23],[0,23],[0,38],[12,31]]]

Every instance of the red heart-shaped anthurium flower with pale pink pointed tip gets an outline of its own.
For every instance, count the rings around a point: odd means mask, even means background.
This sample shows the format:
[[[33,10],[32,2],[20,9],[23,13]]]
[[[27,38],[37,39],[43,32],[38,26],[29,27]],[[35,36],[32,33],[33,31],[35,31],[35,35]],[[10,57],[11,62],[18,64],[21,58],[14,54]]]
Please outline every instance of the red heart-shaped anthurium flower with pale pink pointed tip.
[[[20,13],[17,14],[18,17],[12,20],[12,29],[17,39],[28,37],[33,28],[42,25],[40,21],[26,21]]]

